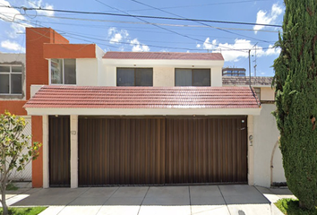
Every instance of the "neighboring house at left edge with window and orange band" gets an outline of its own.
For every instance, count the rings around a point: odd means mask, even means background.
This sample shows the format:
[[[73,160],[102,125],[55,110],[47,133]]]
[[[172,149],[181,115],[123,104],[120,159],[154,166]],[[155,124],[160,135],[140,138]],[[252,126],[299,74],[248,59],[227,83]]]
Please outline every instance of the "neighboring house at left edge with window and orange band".
[[[26,102],[25,54],[0,52],[0,113],[9,110],[23,116],[27,122],[23,133],[31,134],[31,119],[22,106]],[[32,165],[29,163],[21,172],[13,170],[10,179],[18,181],[31,180]]]

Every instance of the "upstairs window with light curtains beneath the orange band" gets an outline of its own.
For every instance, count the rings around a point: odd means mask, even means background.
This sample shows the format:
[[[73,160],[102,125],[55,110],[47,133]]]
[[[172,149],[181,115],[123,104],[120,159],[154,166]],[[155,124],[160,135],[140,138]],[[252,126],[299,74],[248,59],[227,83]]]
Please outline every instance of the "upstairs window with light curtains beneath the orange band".
[[[76,84],[76,60],[51,59],[51,84]]]

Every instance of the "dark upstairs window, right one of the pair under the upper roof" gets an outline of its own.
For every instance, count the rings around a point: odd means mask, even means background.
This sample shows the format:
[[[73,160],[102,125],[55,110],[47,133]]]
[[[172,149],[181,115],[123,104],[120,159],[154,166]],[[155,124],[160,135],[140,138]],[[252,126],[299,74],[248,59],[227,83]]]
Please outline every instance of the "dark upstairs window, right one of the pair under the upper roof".
[[[176,86],[210,86],[210,69],[176,69]]]

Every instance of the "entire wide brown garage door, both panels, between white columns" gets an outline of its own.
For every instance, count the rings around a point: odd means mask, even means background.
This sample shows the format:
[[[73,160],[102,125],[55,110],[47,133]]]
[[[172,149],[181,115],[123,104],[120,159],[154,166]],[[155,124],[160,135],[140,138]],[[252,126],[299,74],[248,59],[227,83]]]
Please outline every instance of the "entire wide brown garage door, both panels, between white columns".
[[[79,118],[79,185],[246,183],[246,117]]]

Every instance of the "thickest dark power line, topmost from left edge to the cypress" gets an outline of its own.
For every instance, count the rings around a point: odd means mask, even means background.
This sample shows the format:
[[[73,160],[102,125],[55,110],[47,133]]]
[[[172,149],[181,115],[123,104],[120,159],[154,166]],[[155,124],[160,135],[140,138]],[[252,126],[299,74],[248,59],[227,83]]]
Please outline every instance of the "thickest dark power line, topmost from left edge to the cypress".
[[[266,27],[278,27],[281,25],[275,24],[263,24],[263,23],[252,23],[252,22],[228,22],[228,21],[215,21],[215,20],[201,20],[201,19],[188,19],[188,18],[173,18],[173,17],[162,17],[162,16],[148,16],[148,15],[133,15],[133,14],[122,14],[122,13],[101,13],[101,12],[85,12],[85,11],[71,11],[71,10],[59,10],[59,9],[47,9],[47,8],[35,8],[35,7],[18,7],[18,6],[1,6],[15,9],[22,9],[24,11],[49,11],[49,12],[59,12],[59,13],[81,13],[81,14],[94,14],[94,15],[111,15],[111,16],[123,16],[123,17],[134,17],[134,18],[144,18],[144,19],[159,19],[159,20],[174,20],[174,21],[190,21],[190,22],[215,22],[223,24],[240,24],[240,25],[261,25]]]

